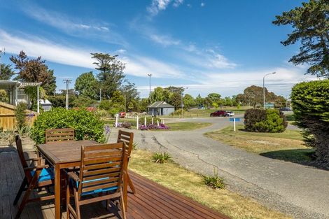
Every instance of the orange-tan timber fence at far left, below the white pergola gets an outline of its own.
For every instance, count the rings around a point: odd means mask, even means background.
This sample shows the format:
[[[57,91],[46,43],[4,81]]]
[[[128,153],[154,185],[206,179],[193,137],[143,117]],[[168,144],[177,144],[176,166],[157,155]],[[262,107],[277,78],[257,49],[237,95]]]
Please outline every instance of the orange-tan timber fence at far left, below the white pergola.
[[[16,126],[15,117],[16,106],[5,104],[0,102],[0,129],[3,130],[14,130]],[[38,116],[38,113],[34,111],[25,111],[27,125],[33,125],[34,120]]]

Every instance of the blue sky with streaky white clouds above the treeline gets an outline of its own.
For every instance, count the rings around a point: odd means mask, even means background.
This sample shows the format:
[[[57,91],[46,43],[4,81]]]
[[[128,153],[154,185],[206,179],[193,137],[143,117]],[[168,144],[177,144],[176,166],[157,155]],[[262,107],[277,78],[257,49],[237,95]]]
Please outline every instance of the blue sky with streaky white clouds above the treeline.
[[[302,80],[307,66],[288,59],[298,45],[280,41],[290,27],[272,24],[275,15],[302,1],[149,0],[149,1],[5,1],[0,0],[1,62],[25,50],[42,56],[55,70],[57,90],[64,78],[94,71],[90,52],[119,55],[125,73],[141,97],[152,88],[188,87],[205,96],[231,96],[248,85],[262,85],[286,96]]]

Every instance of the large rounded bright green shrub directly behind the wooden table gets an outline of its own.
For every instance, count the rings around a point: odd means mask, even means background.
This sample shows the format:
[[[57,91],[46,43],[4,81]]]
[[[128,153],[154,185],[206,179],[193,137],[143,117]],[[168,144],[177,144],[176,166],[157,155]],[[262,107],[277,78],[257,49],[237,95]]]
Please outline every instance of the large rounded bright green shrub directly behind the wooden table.
[[[104,142],[104,123],[92,112],[85,109],[66,110],[52,108],[41,113],[34,121],[31,138],[37,143],[45,143],[45,129],[73,128],[76,140],[91,139]]]

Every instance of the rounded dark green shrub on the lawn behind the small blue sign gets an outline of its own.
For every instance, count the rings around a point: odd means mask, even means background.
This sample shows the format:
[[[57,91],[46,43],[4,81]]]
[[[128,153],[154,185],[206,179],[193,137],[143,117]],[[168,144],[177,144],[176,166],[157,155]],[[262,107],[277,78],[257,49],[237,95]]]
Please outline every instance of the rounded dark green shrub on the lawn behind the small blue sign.
[[[249,132],[284,132],[288,122],[282,112],[268,108],[251,108],[244,114],[244,129]]]

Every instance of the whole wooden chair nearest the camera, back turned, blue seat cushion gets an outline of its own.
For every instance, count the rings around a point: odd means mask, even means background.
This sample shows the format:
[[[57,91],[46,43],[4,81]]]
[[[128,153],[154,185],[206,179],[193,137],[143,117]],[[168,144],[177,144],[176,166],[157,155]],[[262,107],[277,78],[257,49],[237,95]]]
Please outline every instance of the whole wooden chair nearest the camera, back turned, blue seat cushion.
[[[118,199],[121,214],[125,216],[123,202],[123,174],[127,165],[125,146],[123,143],[111,143],[94,146],[83,146],[81,149],[80,171],[67,173],[66,186],[66,218],[80,219],[80,206],[109,199]],[[70,204],[73,193],[75,209]]]

